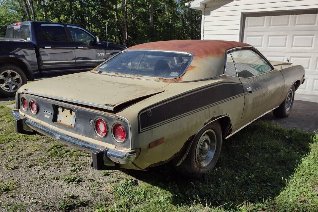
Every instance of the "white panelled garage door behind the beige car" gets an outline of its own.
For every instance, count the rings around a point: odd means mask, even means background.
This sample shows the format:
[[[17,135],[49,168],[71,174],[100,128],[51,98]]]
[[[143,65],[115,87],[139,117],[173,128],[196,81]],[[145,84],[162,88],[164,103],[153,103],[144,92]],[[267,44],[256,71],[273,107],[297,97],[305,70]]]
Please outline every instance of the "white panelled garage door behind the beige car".
[[[244,42],[268,60],[289,61],[306,70],[296,99],[318,102],[318,14],[245,17]]]

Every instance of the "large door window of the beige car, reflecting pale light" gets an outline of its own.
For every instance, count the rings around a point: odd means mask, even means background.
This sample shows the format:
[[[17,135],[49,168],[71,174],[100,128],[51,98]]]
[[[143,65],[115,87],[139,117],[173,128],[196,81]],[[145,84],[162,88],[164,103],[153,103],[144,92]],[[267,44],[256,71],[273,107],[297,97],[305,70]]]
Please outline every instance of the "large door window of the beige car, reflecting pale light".
[[[258,53],[250,49],[232,51],[231,55],[239,77],[254,77],[272,70]]]

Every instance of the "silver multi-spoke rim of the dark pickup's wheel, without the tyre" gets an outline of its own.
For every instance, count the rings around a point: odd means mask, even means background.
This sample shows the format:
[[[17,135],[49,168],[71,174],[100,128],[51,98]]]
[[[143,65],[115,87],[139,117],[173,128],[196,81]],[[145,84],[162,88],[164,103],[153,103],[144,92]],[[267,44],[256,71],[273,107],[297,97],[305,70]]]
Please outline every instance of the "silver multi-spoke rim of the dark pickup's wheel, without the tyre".
[[[0,74],[0,88],[7,92],[15,92],[21,87],[22,78],[13,70],[5,70]]]

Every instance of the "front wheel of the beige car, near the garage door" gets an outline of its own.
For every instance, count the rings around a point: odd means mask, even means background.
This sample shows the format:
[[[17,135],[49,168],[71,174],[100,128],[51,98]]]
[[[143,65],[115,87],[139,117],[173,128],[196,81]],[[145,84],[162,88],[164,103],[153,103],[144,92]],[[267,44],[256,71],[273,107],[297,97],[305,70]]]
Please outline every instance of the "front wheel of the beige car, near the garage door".
[[[290,111],[292,110],[293,103],[294,103],[294,96],[295,96],[295,86],[289,89],[287,93],[287,97],[283,103],[280,104],[275,110],[273,110],[273,114],[279,118],[285,118],[289,116]]]

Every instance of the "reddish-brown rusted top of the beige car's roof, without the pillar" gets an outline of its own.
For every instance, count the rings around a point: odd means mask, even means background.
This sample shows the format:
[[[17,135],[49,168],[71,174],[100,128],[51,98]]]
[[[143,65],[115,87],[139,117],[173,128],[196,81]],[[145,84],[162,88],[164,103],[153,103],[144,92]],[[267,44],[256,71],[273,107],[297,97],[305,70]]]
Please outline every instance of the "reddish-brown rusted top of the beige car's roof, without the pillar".
[[[168,51],[185,51],[193,53],[196,57],[224,55],[227,49],[248,46],[242,42],[222,40],[168,40],[135,45],[127,50],[151,49]]]

